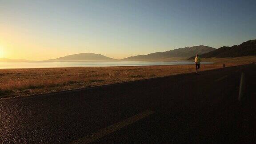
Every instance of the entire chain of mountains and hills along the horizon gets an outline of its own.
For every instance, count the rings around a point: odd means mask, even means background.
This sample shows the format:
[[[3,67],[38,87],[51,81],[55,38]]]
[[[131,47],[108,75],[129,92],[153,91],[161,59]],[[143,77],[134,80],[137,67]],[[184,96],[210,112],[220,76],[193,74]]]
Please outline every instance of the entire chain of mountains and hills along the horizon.
[[[193,47],[177,48],[166,52],[155,52],[148,55],[130,56],[121,60],[113,59],[95,53],[80,53],[50,59],[45,61],[172,61],[172,60],[192,60],[199,54],[201,58],[224,58],[224,57],[240,57],[240,56],[256,56],[256,40],[248,40],[240,45],[232,47],[220,47],[218,49],[199,45]],[[29,61],[24,59],[12,60],[0,58],[0,62],[7,61]]]

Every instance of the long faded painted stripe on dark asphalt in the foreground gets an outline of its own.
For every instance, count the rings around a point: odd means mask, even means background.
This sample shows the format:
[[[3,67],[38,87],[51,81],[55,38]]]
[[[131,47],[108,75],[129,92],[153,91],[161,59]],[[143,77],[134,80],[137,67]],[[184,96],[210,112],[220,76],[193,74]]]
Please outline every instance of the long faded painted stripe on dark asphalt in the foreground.
[[[138,120],[141,120],[143,119],[144,117],[146,116],[149,116],[151,114],[155,113],[154,111],[144,111],[144,112],[141,112],[135,116],[132,116],[132,117],[129,117],[128,119],[126,120],[123,120],[123,121],[120,121],[116,124],[113,124],[111,126],[108,126],[107,128],[104,128],[104,129],[101,129],[100,131],[96,132],[96,133],[93,133],[89,136],[85,136],[83,138],[80,138],[78,140],[75,140],[75,141],[72,141],[71,143],[72,144],[88,144],[88,143],[91,143],[92,141],[94,140],[97,140],[97,139],[100,139],[101,137],[103,136],[106,136],[112,132],[115,132],[121,128],[124,128],[125,126],[129,125],[129,124],[132,124]]]

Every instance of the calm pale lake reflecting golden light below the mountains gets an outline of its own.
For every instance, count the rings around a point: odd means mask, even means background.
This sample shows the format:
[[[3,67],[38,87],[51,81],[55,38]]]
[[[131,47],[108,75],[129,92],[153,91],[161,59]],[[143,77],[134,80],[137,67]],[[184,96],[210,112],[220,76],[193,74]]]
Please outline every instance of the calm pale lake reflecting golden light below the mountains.
[[[110,66],[143,66],[143,65],[178,65],[194,64],[190,61],[170,61],[170,62],[148,62],[148,61],[116,61],[116,62],[1,62],[0,69],[3,68],[64,68],[64,67],[110,67]],[[201,64],[212,64],[202,62]]]

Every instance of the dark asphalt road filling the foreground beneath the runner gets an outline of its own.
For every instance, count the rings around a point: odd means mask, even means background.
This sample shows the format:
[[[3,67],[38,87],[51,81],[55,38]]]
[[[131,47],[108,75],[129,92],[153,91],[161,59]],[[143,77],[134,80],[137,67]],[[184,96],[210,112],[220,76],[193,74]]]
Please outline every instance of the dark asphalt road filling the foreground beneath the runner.
[[[250,64],[0,100],[0,143],[253,143],[255,72]]]

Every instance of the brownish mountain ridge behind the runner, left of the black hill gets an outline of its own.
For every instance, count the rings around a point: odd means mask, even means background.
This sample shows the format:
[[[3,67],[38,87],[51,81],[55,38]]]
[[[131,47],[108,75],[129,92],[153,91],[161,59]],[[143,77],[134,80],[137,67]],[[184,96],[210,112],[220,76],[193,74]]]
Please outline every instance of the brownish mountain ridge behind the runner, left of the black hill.
[[[156,52],[148,55],[131,56],[122,60],[186,60],[191,56],[212,52],[216,48],[200,45],[178,48],[166,52]]]

